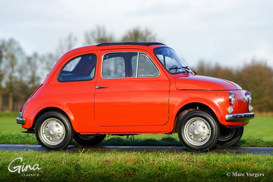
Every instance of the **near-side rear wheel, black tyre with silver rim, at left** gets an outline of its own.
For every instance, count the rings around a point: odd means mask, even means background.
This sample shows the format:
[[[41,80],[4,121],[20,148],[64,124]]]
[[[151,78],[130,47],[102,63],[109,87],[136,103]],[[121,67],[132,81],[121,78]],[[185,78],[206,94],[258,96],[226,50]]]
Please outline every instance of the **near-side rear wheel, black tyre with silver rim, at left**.
[[[41,115],[35,125],[35,136],[39,144],[47,150],[62,150],[73,140],[74,130],[61,112],[49,111]]]

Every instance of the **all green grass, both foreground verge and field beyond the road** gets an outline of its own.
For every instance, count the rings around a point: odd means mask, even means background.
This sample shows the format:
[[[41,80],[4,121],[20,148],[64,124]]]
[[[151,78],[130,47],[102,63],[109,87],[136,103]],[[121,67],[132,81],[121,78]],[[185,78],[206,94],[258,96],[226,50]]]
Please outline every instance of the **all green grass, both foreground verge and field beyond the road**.
[[[23,134],[16,113],[0,113],[0,144],[38,144],[34,134]],[[256,117],[245,127],[238,146],[273,147],[273,117]],[[253,125],[253,126],[252,126]],[[266,127],[263,127],[263,126]],[[251,127],[252,126],[252,127]],[[248,128],[249,129],[248,129]],[[257,130],[257,131],[256,131]],[[264,132],[266,133],[264,134]],[[259,139],[257,137],[261,137]],[[270,141],[266,141],[270,140]],[[77,144],[75,141],[72,144]],[[107,135],[100,145],[181,146],[174,135]],[[40,170],[9,172],[12,166],[38,164]],[[12,167],[11,167],[12,169]],[[271,181],[272,155],[235,155],[215,152],[5,152],[0,150],[0,181]],[[227,174],[231,174],[228,176]],[[235,176],[237,174],[237,176]],[[238,176],[241,174],[241,176]],[[259,175],[258,175],[259,174]],[[30,176],[32,175],[32,176]],[[256,176],[256,177],[255,177]]]

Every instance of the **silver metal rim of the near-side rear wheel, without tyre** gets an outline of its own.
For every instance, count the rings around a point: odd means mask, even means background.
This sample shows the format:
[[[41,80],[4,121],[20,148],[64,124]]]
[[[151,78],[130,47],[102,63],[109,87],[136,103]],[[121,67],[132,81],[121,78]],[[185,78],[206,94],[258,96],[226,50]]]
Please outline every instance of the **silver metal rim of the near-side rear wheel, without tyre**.
[[[62,122],[56,118],[49,118],[41,125],[40,134],[45,143],[57,145],[64,140],[64,124],[62,124]]]

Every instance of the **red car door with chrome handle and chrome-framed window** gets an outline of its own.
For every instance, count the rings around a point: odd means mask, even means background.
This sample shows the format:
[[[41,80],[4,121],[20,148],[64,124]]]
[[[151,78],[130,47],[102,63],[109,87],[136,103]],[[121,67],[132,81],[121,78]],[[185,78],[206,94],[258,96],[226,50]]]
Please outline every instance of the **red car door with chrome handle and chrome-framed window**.
[[[99,126],[162,126],[170,81],[146,53],[101,51],[94,108]]]

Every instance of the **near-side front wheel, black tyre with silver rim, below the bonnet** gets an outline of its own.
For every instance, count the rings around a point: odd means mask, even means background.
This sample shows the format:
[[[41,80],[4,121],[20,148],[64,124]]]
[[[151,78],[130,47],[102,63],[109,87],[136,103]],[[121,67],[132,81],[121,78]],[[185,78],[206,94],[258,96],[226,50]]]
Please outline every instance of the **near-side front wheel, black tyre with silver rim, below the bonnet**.
[[[206,152],[218,141],[219,125],[210,113],[194,110],[181,119],[178,137],[189,151]]]

